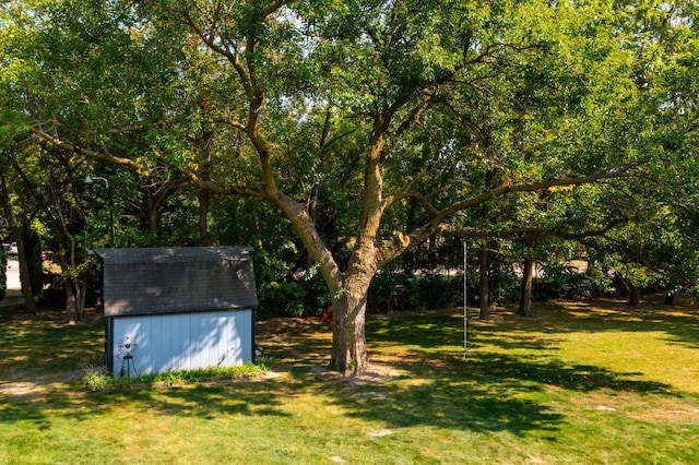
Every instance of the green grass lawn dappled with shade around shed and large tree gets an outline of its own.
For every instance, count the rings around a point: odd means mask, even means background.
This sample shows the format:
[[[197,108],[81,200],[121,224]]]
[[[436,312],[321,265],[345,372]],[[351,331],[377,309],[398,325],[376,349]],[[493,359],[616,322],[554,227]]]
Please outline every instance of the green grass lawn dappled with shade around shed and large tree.
[[[535,303],[369,318],[372,370],[323,369],[330,325],[275,319],[254,380],[90,392],[98,314],[0,307],[0,464],[699,463],[699,308]]]

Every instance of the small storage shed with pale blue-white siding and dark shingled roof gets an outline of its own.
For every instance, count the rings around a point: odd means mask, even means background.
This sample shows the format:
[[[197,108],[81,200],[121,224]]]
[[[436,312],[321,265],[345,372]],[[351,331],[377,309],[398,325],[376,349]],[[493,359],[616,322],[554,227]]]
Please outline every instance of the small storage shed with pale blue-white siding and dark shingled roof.
[[[99,249],[105,358],[115,378],[254,359],[251,249]]]

